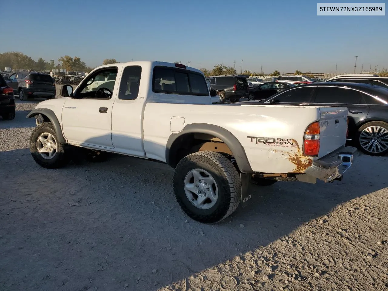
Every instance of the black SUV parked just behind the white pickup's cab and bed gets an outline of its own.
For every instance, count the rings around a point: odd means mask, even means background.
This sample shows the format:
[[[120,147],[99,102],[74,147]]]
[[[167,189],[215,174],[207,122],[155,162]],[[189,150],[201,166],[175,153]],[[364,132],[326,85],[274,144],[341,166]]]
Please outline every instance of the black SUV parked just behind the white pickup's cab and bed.
[[[248,97],[248,81],[243,76],[215,76],[210,80],[210,88],[218,90],[220,103],[238,102],[242,97]]]

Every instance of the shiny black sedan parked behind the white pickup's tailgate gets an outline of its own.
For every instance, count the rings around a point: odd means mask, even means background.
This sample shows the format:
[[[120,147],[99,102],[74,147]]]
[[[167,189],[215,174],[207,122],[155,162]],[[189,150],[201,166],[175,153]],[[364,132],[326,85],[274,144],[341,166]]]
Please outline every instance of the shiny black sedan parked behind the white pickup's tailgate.
[[[253,104],[347,107],[348,140],[357,145],[365,154],[373,156],[387,154],[388,88],[350,80],[352,79],[344,82],[334,79],[303,86],[291,84],[289,88]]]

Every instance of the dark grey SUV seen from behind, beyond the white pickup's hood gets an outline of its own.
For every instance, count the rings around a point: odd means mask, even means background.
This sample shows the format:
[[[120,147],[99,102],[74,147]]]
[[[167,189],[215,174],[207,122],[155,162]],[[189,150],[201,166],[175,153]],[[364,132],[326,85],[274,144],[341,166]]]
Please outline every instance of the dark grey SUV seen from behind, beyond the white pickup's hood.
[[[35,97],[52,99],[57,93],[54,80],[48,74],[19,71],[10,75],[7,83],[23,101]]]

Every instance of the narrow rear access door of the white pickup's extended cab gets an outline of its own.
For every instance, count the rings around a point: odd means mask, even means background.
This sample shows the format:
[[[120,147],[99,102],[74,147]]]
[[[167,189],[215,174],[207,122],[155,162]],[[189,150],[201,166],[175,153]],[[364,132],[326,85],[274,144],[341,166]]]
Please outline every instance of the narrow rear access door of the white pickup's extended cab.
[[[145,158],[143,106],[149,80],[141,79],[141,74],[141,66],[126,66],[123,69],[112,110],[112,142],[115,151]]]

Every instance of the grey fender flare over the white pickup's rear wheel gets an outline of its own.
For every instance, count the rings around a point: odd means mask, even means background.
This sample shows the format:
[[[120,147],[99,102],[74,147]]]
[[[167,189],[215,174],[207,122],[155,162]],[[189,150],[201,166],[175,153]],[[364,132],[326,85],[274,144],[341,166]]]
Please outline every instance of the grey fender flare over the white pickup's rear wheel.
[[[181,132],[172,133],[168,138],[166,144],[166,163],[175,168],[179,161],[175,160],[174,142],[187,133],[205,133],[213,135],[221,139],[232,151],[234,159],[236,159],[237,166],[242,173],[253,173],[251,165],[249,164],[244,147],[242,147],[239,140],[228,130],[218,125],[208,123],[192,123],[184,127]],[[172,152],[171,152],[172,150]]]

